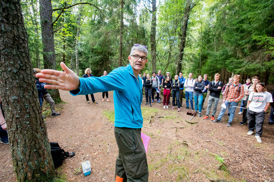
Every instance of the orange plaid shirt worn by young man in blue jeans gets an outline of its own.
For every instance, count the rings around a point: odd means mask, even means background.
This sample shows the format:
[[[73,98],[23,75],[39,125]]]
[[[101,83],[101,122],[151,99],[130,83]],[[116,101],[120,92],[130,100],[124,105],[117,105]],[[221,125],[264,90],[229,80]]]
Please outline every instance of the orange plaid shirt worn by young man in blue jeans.
[[[223,94],[223,98],[226,99],[228,102],[239,102],[244,96],[244,86],[241,85],[241,89],[239,89],[239,83],[234,86],[233,83],[230,85],[227,84],[226,89]]]

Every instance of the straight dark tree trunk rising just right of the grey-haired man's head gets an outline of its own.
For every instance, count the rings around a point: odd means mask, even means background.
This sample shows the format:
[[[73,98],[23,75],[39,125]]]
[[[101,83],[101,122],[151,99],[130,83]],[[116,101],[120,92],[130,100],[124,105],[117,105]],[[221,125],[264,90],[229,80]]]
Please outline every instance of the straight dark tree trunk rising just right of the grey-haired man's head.
[[[150,48],[151,48],[151,64],[152,72],[156,72],[156,0],[151,1],[152,4],[152,20],[150,30]]]

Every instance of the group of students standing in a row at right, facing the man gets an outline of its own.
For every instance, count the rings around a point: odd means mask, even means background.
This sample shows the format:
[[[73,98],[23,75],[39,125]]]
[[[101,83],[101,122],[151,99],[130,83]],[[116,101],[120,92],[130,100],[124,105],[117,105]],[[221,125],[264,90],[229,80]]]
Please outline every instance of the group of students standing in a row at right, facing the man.
[[[160,75],[160,70],[158,75],[155,75],[153,72],[152,78],[149,74],[144,73],[143,88],[145,89],[146,104],[151,106],[151,103],[154,101],[154,91],[157,95],[157,102],[160,95],[160,88],[163,88],[163,108],[168,108],[170,94],[172,95],[172,110],[175,109],[175,106],[178,107],[178,112],[180,112],[180,107],[182,106],[182,97],[183,91],[185,88],[185,98],[186,98],[186,107],[189,109],[189,102],[191,109],[198,116],[202,116],[202,110],[204,101],[207,96],[207,91],[209,91],[208,105],[206,108],[206,116],[203,117],[204,120],[209,119],[210,110],[213,105],[213,111],[211,120],[213,123],[220,123],[225,111],[228,109],[229,120],[226,126],[230,127],[234,119],[235,110],[238,107],[239,101],[241,101],[240,112],[238,114],[243,114],[243,120],[239,123],[241,125],[248,124],[248,135],[254,133],[256,129],[255,138],[261,143],[262,136],[262,126],[265,119],[265,111],[272,103],[271,113],[269,116],[269,124],[274,124],[274,91],[272,94],[266,91],[265,84],[259,83],[260,80],[257,76],[251,79],[247,79],[245,84],[239,83],[241,76],[234,75],[229,79],[229,82],[225,85],[219,80],[220,74],[216,73],[213,81],[207,80],[208,75],[205,74],[202,78],[201,75],[198,76],[197,81],[192,78],[193,74],[189,73],[188,78],[185,79],[180,72],[179,76],[175,75],[174,80],[170,77],[170,73],[167,72],[166,76],[163,77]],[[141,75],[139,75],[141,77]],[[158,76],[161,76],[161,79],[157,79]],[[162,81],[162,82],[161,82]],[[215,119],[217,106],[220,100],[220,95],[223,95],[222,109]],[[151,100],[152,97],[152,100]],[[193,107],[193,98],[194,98],[194,107]]]

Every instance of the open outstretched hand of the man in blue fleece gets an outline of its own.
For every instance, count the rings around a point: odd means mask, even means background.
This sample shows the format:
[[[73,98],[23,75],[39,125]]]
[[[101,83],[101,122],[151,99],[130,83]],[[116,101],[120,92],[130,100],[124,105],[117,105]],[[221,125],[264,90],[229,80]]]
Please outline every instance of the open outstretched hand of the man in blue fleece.
[[[76,90],[79,89],[79,77],[69,69],[64,62],[60,63],[64,71],[53,69],[43,69],[41,73],[37,73],[40,82],[51,83],[53,85],[45,85],[46,89]]]

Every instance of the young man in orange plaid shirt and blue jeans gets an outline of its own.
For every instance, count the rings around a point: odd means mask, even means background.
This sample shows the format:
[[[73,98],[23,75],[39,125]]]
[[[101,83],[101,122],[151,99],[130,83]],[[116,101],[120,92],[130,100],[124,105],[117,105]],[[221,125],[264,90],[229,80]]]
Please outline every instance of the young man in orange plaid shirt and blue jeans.
[[[222,107],[218,118],[214,120],[213,123],[220,123],[228,106],[231,105],[232,107],[231,107],[227,127],[231,126],[232,120],[234,118],[235,110],[236,110],[236,107],[234,106],[237,106],[239,101],[244,96],[244,86],[241,83],[239,83],[240,79],[241,79],[241,75],[234,75],[233,83],[227,84],[223,94],[223,103],[225,104],[225,108]]]

